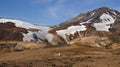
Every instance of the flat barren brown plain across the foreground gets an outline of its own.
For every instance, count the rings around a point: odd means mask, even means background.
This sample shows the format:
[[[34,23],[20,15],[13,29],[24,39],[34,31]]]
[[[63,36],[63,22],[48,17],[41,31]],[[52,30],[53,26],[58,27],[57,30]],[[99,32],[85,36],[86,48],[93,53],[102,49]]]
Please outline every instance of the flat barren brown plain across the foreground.
[[[0,67],[120,67],[120,50],[69,45],[27,49],[0,53]]]

